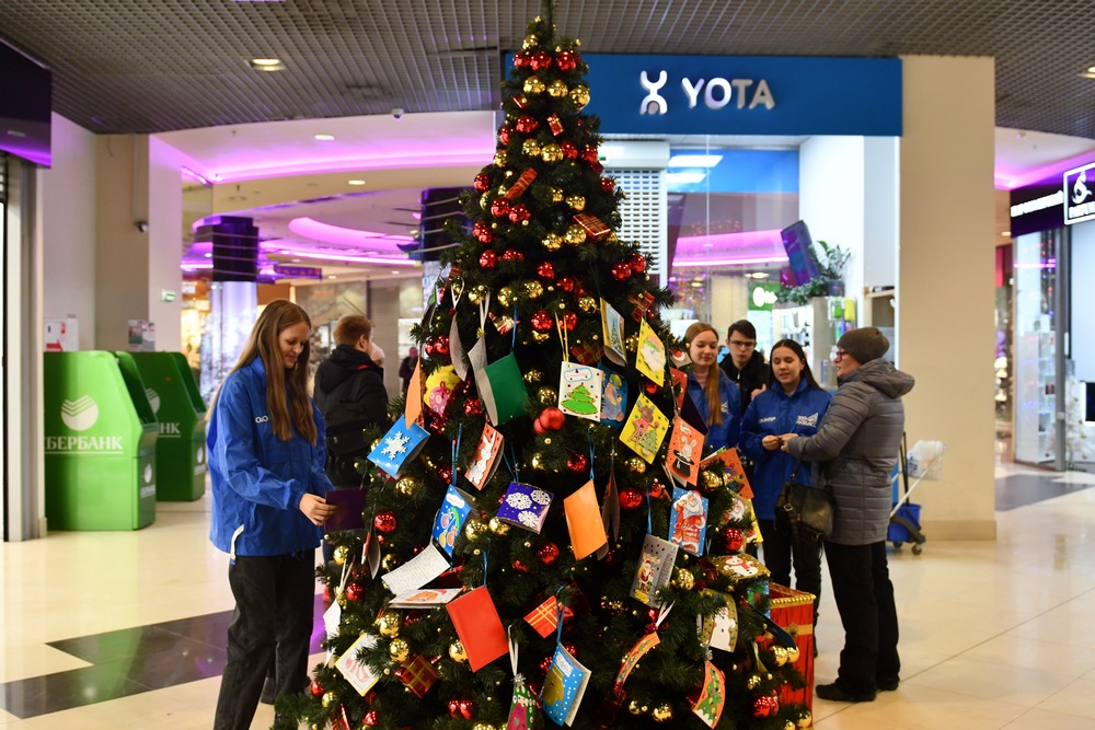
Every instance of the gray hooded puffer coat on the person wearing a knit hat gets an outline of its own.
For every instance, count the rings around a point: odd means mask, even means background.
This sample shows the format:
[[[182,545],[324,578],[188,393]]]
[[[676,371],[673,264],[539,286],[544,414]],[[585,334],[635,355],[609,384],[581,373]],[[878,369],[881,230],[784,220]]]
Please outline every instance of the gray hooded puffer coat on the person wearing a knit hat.
[[[894,505],[890,476],[904,431],[901,396],[912,375],[871,360],[840,380],[811,437],[792,439],[787,452],[814,462],[815,484],[832,485],[837,518],[829,542],[869,545],[886,540]]]

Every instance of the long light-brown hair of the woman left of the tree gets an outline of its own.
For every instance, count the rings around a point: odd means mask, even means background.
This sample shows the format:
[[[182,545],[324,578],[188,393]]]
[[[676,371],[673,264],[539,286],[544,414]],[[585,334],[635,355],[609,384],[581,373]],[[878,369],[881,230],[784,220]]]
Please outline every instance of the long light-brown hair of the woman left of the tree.
[[[288,441],[296,428],[301,437],[315,443],[319,430],[315,428],[312,404],[308,399],[308,358],[312,351],[311,343],[304,340],[300,357],[288,371],[285,369],[281,347],[278,344],[278,336],[283,332],[301,323],[307,324],[309,329],[312,328],[312,321],[300,306],[288,299],[272,301],[258,315],[255,326],[251,328],[251,336],[232,372],[251,364],[256,357],[262,358],[266,368],[266,410],[274,433],[283,441]],[[286,373],[286,376],[281,376],[281,373]],[[292,404],[291,419],[289,409],[286,408],[286,401]],[[212,406],[209,407],[209,412],[212,413]]]

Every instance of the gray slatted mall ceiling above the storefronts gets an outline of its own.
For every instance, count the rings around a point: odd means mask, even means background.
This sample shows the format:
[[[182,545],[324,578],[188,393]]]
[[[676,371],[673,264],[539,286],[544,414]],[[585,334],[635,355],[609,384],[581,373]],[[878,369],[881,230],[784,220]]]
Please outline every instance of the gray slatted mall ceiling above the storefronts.
[[[1091,2],[556,4],[558,31],[588,53],[992,56],[998,126],[1095,138]],[[162,132],[494,108],[502,53],[539,12],[539,0],[0,0],[0,37],[53,69],[62,116],[95,132]],[[251,68],[269,57],[286,70]]]

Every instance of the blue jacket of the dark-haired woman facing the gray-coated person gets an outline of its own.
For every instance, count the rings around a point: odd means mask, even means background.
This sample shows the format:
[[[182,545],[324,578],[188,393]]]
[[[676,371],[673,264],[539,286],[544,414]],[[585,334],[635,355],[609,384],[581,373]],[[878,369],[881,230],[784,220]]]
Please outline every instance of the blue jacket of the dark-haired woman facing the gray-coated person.
[[[769,451],[761,445],[761,440],[765,436],[783,433],[814,436],[831,397],[803,380],[791,395],[775,384],[753,398],[746,408],[741,419],[741,451],[756,463],[750,484],[758,520],[775,519],[775,500],[795,468],[795,460],[789,454]],[[810,464],[803,463],[795,482],[810,484]]]

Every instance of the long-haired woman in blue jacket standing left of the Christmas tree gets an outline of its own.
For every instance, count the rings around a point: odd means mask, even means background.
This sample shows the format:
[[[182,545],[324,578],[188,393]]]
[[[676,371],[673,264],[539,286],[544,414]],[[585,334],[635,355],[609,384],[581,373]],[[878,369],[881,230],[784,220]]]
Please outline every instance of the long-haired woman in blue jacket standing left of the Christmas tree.
[[[304,310],[267,304],[210,409],[209,537],[231,556],[235,598],[215,730],[251,727],[272,661],[276,694],[308,682],[315,547],[335,509],[324,500],[323,419],[307,391],[310,332]]]

